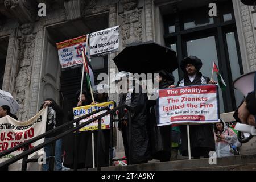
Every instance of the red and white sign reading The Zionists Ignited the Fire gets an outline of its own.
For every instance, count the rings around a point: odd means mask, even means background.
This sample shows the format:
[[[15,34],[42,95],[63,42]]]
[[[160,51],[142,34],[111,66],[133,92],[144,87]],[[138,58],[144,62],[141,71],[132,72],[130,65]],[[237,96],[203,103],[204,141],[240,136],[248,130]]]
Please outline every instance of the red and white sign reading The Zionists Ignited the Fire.
[[[158,126],[219,122],[218,86],[196,85],[160,89]]]

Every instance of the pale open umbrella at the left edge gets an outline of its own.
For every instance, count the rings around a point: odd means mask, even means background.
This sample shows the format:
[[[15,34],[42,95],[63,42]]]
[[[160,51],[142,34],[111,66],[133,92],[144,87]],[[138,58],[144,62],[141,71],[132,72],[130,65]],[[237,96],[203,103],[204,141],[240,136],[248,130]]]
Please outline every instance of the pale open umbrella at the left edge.
[[[20,106],[18,102],[11,96],[9,92],[0,90],[0,106],[7,105],[11,109],[12,114],[16,114]]]

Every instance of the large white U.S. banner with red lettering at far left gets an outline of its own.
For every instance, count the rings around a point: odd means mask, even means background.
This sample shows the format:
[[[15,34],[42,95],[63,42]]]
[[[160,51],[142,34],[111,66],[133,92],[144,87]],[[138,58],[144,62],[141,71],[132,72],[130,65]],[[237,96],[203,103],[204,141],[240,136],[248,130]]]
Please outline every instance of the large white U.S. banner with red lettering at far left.
[[[40,134],[46,132],[46,121],[47,121],[47,108],[42,109],[32,117],[30,120],[21,122],[16,121],[9,115],[0,118],[0,152],[13,148],[19,144],[26,142]],[[38,144],[43,143],[44,138],[40,139],[34,143],[31,143],[29,148],[38,146]],[[43,149],[28,156],[28,159],[34,158],[36,155],[42,154]],[[8,159],[14,158],[23,152],[21,148],[9,155],[5,155],[0,158],[0,163],[5,162]],[[17,164],[18,163],[18,164]],[[20,170],[22,164],[22,159],[18,162],[11,164],[9,170]]]

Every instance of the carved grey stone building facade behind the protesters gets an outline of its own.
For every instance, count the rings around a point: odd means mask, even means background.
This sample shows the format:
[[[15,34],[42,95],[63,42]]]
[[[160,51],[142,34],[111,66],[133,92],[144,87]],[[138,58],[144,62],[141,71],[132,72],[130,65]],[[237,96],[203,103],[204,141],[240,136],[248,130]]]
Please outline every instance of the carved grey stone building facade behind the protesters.
[[[46,17],[38,16],[38,4],[42,2],[46,4]],[[0,86],[13,94],[19,102],[21,109],[17,116],[20,121],[25,121],[36,114],[46,97],[53,97],[61,102],[61,68],[58,60],[52,59],[57,55],[54,47],[57,41],[120,25],[119,51],[127,44],[150,40],[169,46],[165,36],[168,22],[166,16],[179,13],[179,9],[185,12],[192,7],[207,6],[210,2],[212,1],[0,0],[0,60],[5,61],[4,65],[1,64]],[[236,48],[240,50],[238,57],[241,57],[242,73],[247,73],[256,70],[256,11],[237,0],[233,0],[232,5],[238,39]],[[180,22],[174,20],[174,23]],[[102,24],[106,26],[102,27]],[[112,53],[107,57],[107,72],[110,69],[117,72],[113,62],[116,55],[117,53]],[[181,60],[179,50],[177,56]],[[224,68],[225,65],[222,66],[223,71]],[[117,95],[110,97],[117,101]],[[228,106],[225,108],[228,108],[225,111],[232,111]],[[121,138],[119,133],[118,138]],[[118,139],[117,146],[122,150],[121,139]]]

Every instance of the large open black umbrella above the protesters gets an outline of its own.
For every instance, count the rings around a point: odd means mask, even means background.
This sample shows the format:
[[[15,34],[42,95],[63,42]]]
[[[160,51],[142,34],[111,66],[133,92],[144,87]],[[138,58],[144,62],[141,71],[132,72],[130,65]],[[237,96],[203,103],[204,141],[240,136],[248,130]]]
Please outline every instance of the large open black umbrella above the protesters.
[[[176,52],[152,41],[129,44],[113,60],[119,71],[130,73],[172,72],[178,68]]]

